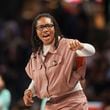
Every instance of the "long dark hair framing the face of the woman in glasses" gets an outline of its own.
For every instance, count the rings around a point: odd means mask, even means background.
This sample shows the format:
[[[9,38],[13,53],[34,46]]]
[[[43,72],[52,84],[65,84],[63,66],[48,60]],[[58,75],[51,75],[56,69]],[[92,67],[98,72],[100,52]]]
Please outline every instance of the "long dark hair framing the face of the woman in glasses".
[[[52,20],[55,28],[55,47],[58,46],[58,36],[62,36],[60,28],[58,26],[58,23],[56,22],[55,18],[50,15],[49,13],[40,13],[38,16],[34,18],[34,21],[32,23],[32,37],[31,37],[31,43],[32,43],[32,51],[36,53],[38,50],[42,49],[43,43],[39,39],[37,33],[36,33],[36,23],[41,17],[48,17]]]

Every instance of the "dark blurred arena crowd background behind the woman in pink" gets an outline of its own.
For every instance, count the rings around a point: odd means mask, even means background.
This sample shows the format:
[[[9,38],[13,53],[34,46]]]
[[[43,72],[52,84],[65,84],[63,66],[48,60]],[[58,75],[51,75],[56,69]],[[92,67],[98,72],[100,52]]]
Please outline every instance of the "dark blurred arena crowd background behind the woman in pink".
[[[31,81],[24,68],[31,54],[32,21],[40,12],[52,14],[65,37],[95,46],[96,54],[87,60],[85,93],[89,110],[110,110],[110,0],[2,0],[0,75],[11,93],[9,110],[39,110],[39,99],[28,108],[22,97]]]

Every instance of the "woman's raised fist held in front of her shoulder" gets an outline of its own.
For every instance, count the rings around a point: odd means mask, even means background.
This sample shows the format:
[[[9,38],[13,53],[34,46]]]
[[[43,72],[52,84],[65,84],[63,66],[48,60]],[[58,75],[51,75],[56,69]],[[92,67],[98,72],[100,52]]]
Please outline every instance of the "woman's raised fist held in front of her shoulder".
[[[81,50],[84,48],[83,44],[77,39],[73,39],[73,40],[69,41],[68,46],[73,51]]]

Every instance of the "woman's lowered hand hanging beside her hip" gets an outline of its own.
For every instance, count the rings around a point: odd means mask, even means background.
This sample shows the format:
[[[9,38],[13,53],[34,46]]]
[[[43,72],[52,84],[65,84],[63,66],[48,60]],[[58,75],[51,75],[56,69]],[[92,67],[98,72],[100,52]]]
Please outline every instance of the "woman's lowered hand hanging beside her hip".
[[[23,96],[23,101],[26,106],[32,106],[32,104],[34,103],[32,97],[33,97],[32,91],[28,90],[28,89],[25,90],[24,96]]]

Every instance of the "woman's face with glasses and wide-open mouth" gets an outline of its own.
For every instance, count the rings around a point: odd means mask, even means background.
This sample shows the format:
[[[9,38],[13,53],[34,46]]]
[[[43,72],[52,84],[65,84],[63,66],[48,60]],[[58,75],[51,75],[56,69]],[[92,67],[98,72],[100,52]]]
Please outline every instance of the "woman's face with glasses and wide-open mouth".
[[[36,32],[44,45],[51,44],[54,41],[54,24],[48,17],[41,17],[36,24]]]

